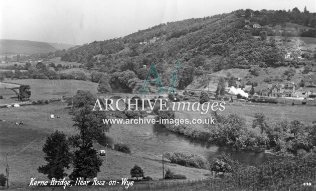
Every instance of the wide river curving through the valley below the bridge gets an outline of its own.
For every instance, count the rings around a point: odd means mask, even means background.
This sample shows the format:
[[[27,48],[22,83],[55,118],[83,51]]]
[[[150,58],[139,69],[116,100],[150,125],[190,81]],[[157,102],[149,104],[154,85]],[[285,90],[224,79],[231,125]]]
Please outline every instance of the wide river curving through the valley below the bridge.
[[[146,119],[149,118],[154,118],[154,116],[146,117]],[[132,152],[154,155],[162,155],[163,152],[188,151],[209,158],[227,153],[231,154],[234,160],[247,165],[258,165],[268,158],[274,158],[268,153],[256,153],[192,140],[184,135],[170,132],[159,124],[113,124],[99,143],[108,147],[112,147],[115,143],[126,143]]]

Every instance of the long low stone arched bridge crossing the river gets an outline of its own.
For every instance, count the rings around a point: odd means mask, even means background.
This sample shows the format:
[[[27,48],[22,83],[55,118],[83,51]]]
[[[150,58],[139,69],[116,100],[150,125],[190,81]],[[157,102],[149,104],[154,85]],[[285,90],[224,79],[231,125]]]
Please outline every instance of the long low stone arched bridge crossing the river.
[[[152,99],[154,97],[168,97],[168,93],[107,93],[103,95],[103,99],[123,98],[123,99]]]

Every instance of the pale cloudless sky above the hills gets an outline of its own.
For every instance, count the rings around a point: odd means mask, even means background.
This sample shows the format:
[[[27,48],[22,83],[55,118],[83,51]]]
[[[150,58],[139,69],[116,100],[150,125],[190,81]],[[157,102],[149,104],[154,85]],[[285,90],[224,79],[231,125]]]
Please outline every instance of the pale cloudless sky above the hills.
[[[316,12],[315,0],[0,0],[0,39],[82,45],[239,9]]]

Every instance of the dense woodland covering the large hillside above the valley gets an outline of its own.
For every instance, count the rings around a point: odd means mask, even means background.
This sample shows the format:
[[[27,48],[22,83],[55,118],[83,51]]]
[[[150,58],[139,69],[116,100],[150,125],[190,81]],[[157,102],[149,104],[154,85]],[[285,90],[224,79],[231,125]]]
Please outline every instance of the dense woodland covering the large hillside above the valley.
[[[245,20],[248,19],[263,28],[244,30]],[[286,29],[286,23],[310,29],[293,32]],[[146,75],[143,65],[149,66],[154,62],[163,83],[169,84],[169,72],[176,70],[177,87],[183,89],[195,77],[221,69],[290,65],[292,63],[284,60],[284,54],[292,51],[293,57],[300,56],[301,53],[294,51],[297,45],[286,38],[276,41],[269,36],[315,37],[315,24],[315,13],[306,9],[303,12],[297,8],[288,11],[238,10],[230,14],[160,24],[123,38],[94,41],[68,50],[61,59],[81,62],[88,69],[97,68],[109,74],[129,70],[139,80]],[[272,30],[275,25],[284,29]],[[313,60],[313,52],[304,52],[307,64],[308,60]],[[176,60],[181,62],[178,68],[173,64]]]

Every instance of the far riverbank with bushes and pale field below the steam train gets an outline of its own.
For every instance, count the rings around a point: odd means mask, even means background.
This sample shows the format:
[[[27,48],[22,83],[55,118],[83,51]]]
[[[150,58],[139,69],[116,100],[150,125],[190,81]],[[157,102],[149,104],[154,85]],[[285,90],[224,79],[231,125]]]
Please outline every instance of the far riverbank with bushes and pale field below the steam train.
[[[253,152],[264,152],[275,156],[292,156],[297,152],[296,140],[292,132],[289,131],[290,123],[295,122],[300,124],[300,131],[309,132],[312,122],[315,120],[313,114],[316,112],[316,107],[282,107],[278,105],[236,105],[227,104],[224,111],[217,111],[216,115],[220,115],[221,119],[217,119],[218,124],[165,124],[168,131],[185,135],[192,140],[199,140],[202,143],[213,143],[225,145],[236,149],[246,149]],[[295,110],[295,112],[294,112]],[[255,114],[261,113],[265,122],[268,124],[264,133],[260,130],[260,125],[252,128]],[[209,115],[201,115],[199,111],[176,111],[175,119],[188,119],[189,121],[200,119],[202,122],[205,119],[215,117],[214,113]],[[286,125],[287,127],[283,127]],[[308,127],[309,126],[309,127]],[[307,128],[305,130],[305,127]],[[306,131],[306,132],[305,132]],[[304,134],[303,133],[303,134]],[[278,136],[278,134],[280,134]],[[302,134],[302,135],[303,135]],[[282,136],[283,135],[283,136]],[[282,139],[279,137],[283,137]],[[289,137],[289,139],[284,139]],[[279,138],[279,139],[278,139]],[[284,140],[283,140],[284,139]],[[279,142],[289,144],[290,147]],[[312,141],[309,141],[312,145]],[[276,149],[271,149],[276,147]],[[286,148],[285,148],[286,147]],[[308,147],[302,148],[309,152]],[[288,150],[289,149],[289,150]],[[296,149],[296,150],[295,150]]]

